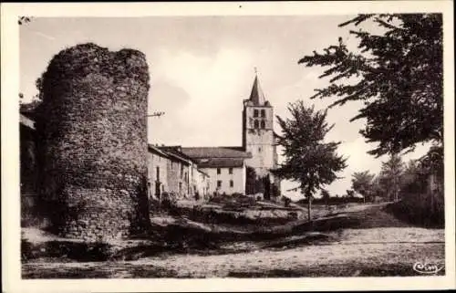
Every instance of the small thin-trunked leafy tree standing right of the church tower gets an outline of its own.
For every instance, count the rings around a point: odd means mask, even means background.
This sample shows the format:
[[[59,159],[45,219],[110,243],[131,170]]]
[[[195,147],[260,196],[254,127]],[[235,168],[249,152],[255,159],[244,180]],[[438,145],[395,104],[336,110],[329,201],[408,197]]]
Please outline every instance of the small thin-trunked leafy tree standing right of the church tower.
[[[306,196],[310,220],[313,194],[337,179],[336,173],[347,166],[346,159],[336,153],[340,142],[324,142],[334,126],[326,123],[326,110],[307,108],[302,100],[290,103],[288,110],[291,118],[277,116],[282,129],[277,143],[284,149],[285,162],[273,172],[299,183],[295,190]]]

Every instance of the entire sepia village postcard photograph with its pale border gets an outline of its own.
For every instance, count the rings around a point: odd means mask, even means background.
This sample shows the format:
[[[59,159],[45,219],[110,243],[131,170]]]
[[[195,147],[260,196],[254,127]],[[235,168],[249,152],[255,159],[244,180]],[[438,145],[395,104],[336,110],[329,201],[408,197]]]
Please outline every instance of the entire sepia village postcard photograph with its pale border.
[[[433,2],[10,12],[18,277],[448,281],[453,24]]]

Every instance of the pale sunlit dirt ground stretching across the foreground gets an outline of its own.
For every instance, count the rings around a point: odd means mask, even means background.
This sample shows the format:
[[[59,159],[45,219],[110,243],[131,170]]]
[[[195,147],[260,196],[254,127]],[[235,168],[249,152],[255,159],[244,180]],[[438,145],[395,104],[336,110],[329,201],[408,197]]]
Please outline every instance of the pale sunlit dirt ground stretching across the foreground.
[[[443,230],[347,229],[327,245],[227,255],[161,255],[137,261],[23,265],[26,278],[418,276],[417,262],[444,264]],[[438,272],[443,275],[444,269]]]

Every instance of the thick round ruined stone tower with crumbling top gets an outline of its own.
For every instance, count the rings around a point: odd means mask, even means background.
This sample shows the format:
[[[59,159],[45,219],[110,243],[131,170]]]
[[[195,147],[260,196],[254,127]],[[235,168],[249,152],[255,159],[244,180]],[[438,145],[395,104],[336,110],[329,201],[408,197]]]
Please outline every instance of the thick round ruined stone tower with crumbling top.
[[[144,54],[78,45],[44,75],[40,194],[60,235],[117,238],[148,225]]]

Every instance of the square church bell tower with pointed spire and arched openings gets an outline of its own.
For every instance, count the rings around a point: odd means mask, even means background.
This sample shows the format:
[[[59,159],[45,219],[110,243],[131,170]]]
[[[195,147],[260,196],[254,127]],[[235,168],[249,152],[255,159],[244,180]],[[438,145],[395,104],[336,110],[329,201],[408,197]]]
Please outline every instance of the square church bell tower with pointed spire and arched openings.
[[[274,109],[264,98],[258,76],[254,78],[250,98],[244,99],[243,147],[252,154],[245,164],[253,167],[259,178],[269,175],[270,182],[280,188],[280,182],[270,172],[277,165]]]

